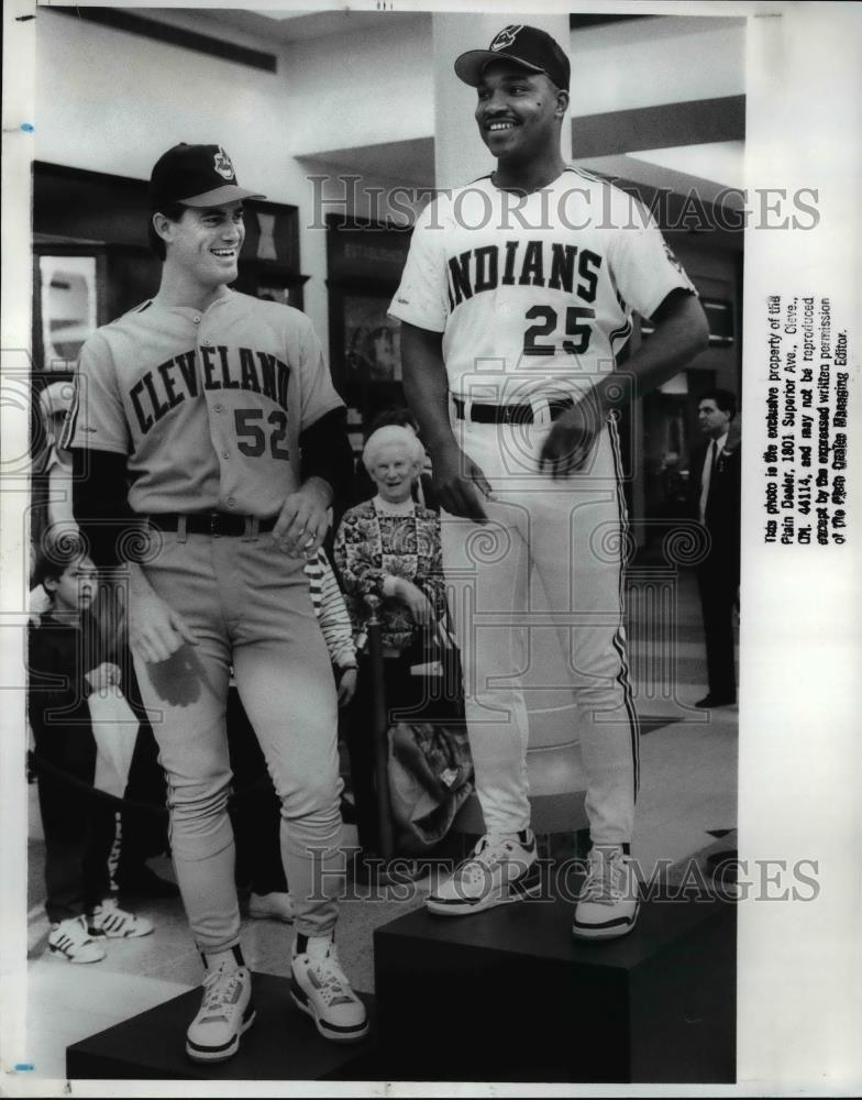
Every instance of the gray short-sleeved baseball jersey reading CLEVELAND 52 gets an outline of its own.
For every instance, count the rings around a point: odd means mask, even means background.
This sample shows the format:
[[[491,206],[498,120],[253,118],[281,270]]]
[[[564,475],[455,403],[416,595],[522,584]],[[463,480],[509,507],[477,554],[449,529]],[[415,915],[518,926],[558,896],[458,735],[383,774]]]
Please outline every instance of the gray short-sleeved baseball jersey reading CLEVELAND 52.
[[[64,446],[126,454],[134,512],[265,518],[300,485],[299,433],[342,404],[299,310],[151,300],[81,349]]]

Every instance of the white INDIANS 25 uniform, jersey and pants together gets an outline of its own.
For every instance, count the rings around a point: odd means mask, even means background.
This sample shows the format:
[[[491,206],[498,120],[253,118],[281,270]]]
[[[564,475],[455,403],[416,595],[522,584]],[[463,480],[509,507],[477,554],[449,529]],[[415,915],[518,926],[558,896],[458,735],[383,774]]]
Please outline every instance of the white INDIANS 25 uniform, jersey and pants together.
[[[646,211],[579,169],[528,196],[486,177],[441,195],[417,220],[389,311],[443,333],[449,388],[465,403],[455,409],[455,439],[495,494],[483,501],[495,546],[487,560],[477,558],[477,525],[441,514],[476,791],[489,833],[517,833],[530,822],[530,723],[512,669],[529,666],[522,624],[529,632],[533,571],[549,607],[571,617],[557,631],[574,673],[594,844],[631,839],[638,719],[620,605],[623,563],[618,551],[604,553],[594,542],[623,522],[621,493],[605,488],[611,480],[619,485],[616,422],[597,437],[583,471],[554,481],[540,471],[548,416],[524,429],[474,420],[468,407],[532,404],[539,411],[545,403],[548,413],[548,399],[577,397],[614,370],[632,310],[651,317],[677,287],[694,292]]]

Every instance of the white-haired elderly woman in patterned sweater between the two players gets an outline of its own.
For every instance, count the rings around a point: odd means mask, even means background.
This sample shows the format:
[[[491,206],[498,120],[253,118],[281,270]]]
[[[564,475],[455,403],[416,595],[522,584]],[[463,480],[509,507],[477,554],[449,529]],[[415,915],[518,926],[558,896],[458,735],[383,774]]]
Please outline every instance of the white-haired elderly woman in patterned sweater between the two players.
[[[422,700],[424,681],[411,675],[411,650],[422,629],[446,620],[436,513],[411,496],[424,451],[409,428],[387,425],[369,436],[363,463],[376,495],[350,508],[335,536],[333,558],[347,598],[358,657],[358,684],[347,729],[360,844],[378,846],[374,795],[374,696],[365,596],[379,596],[386,703],[389,713]]]

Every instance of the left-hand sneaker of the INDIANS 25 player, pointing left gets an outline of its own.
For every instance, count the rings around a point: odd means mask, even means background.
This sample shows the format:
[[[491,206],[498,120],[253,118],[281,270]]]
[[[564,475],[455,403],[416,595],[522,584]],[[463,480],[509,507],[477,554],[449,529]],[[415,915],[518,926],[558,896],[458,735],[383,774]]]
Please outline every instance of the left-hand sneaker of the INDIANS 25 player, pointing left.
[[[443,916],[480,913],[523,901],[541,891],[535,837],[522,829],[512,837],[483,836],[469,856],[429,894],[429,912]]]

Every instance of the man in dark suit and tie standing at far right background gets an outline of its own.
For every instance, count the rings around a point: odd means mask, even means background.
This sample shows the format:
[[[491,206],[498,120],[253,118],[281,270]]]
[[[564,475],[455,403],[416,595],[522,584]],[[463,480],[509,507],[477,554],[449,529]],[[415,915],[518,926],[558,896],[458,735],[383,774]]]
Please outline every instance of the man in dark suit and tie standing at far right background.
[[[692,457],[690,507],[706,528],[709,548],[697,569],[706,635],[709,693],[695,706],[708,710],[737,701],[733,608],[739,594],[741,457],[737,399],[711,389],[698,403],[707,441]]]

